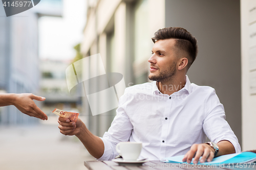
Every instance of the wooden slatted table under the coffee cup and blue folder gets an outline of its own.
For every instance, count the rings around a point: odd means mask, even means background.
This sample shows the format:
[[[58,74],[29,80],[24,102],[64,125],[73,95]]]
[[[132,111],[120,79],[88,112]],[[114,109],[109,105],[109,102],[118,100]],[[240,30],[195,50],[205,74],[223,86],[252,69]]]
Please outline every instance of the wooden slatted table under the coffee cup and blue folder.
[[[186,163],[164,163],[161,161],[147,161],[140,166],[120,166],[113,161],[84,161],[84,166],[89,170],[160,170],[160,169],[256,169],[255,163],[234,163],[229,165],[194,165]]]

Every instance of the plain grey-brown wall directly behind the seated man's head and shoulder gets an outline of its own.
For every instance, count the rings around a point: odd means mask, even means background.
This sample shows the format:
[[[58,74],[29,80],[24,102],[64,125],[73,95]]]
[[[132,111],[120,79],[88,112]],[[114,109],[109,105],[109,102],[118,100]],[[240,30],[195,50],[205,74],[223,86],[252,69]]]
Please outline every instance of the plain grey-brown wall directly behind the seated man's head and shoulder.
[[[197,38],[199,54],[187,75],[216,89],[241,144],[240,1],[166,0],[165,14],[166,27],[183,27]]]

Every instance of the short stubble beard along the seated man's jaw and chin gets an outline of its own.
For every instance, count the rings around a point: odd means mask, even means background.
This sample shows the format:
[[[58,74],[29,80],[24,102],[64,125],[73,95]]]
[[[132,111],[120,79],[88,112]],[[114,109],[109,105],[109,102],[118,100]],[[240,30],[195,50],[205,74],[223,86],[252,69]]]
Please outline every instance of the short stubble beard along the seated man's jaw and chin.
[[[169,69],[159,72],[158,75],[148,76],[148,79],[159,82],[171,81],[176,75],[176,64],[177,62],[174,62]]]

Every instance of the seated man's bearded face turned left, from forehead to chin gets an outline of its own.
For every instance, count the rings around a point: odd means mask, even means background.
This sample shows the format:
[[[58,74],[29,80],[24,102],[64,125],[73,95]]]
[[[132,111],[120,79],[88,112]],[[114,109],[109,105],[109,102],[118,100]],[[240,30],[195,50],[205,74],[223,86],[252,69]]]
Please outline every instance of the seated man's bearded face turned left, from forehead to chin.
[[[152,48],[150,62],[150,75],[148,78],[153,81],[169,81],[176,75],[177,48],[175,39],[157,40]]]

